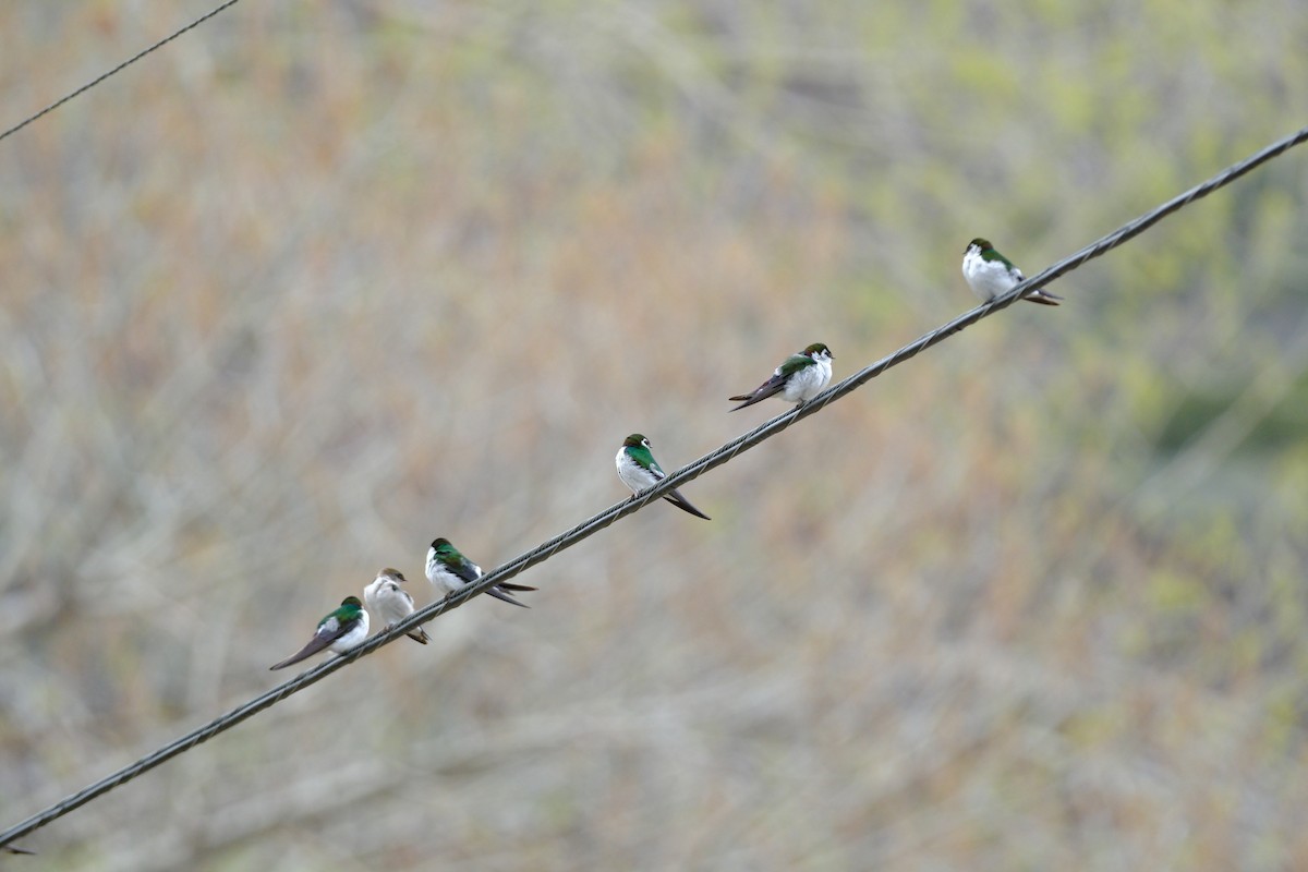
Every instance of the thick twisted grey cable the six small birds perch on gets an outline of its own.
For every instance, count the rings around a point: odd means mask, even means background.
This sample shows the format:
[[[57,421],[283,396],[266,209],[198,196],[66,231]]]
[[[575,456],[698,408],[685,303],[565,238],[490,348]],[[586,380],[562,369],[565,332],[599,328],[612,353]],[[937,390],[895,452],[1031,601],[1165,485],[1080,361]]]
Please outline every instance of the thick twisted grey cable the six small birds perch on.
[[[115,787],[126,784],[133,778],[137,778],[144,773],[154,769],[160,763],[169,761],[173,757],[177,757],[178,754],[182,754],[190,750],[191,748],[195,748],[200,743],[207,741],[213,736],[217,736],[218,733],[230,729],[242,720],[252,718],[255,714],[276,705],[277,702],[285,699],[293,693],[298,693],[300,690],[303,690],[305,688],[322,681],[336,669],[344,668],[345,665],[353,663],[358,658],[368,656],[377,648],[382,647],[383,645],[394,642],[395,639],[400,638],[409,630],[422,624],[426,624],[428,621],[432,621],[433,618],[436,618],[439,614],[443,614],[445,612],[450,612],[455,608],[459,608],[473,596],[477,596],[479,594],[484,592],[487,588],[506,582],[513,577],[518,575],[519,573],[523,573],[525,570],[530,569],[531,566],[535,566],[536,563],[549,560],[551,557],[564,550],[565,548],[570,548],[572,545],[576,545],[583,539],[594,536],[595,533],[604,529],[610,524],[615,523],[620,518],[625,518],[627,515],[640,511],[649,503],[661,499],[666,493],[674,490],[675,488],[680,488],[681,485],[693,481],[695,478],[698,478],[709,469],[713,469],[715,467],[722,465],[723,463],[730,461],[736,455],[742,454],[743,451],[748,451],[760,442],[770,439],[772,437],[777,435],[778,433],[781,433],[790,425],[795,424],[797,421],[807,418],[810,414],[816,414],[821,409],[827,408],[828,404],[835,403],[837,399],[845,396],[850,391],[862,387],[863,384],[872,380],[886,370],[893,366],[899,366],[904,361],[917,356],[920,352],[923,352],[927,348],[931,348],[933,345],[943,343],[947,337],[977,323],[982,318],[988,318],[994,312],[999,311],[1001,309],[1007,309],[1019,297],[1022,297],[1022,294],[1025,292],[1027,288],[1037,288],[1040,285],[1046,285],[1058,278],[1059,276],[1063,276],[1071,272],[1073,269],[1079,268],[1087,260],[1097,258],[1104,252],[1109,251],[1110,248],[1114,248],[1116,246],[1120,246],[1121,243],[1126,242],[1127,239],[1131,239],[1133,237],[1144,233],[1144,230],[1150,229],[1151,226],[1154,226],[1167,216],[1172,214],[1173,212],[1179,212],[1180,209],[1184,209],[1185,207],[1194,203],[1196,200],[1199,200],[1207,196],[1209,193],[1213,193],[1218,188],[1230,184],[1231,182],[1236,180],[1245,173],[1249,173],[1250,170],[1261,166],[1262,163],[1266,163],[1267,161],[1283,154],[1284,152],[1290,150],[1295,145],[1304,143],[1305,140],[1308,140],[1308,127],[1304,127],[1299,132],[1292,133],[1284,139],[1281,139],[1273,143],[1271,145],[1266,146],[1261,152],[1257,152],[1250,157],[1245,158],[1244,161],[1240,161],[1239,163],[1235,163],[1222,170],[1220,173],[1218,173],[1209,180],[1203,182],[1202,184],[1198,184],[1190,188],[1189,191],[1181,193],[1180,196],[1168,200],[1163,205],[1150,212],[1146,212],[1134,221],[1122,225],[1113,233],[1101,237],[1099,241],[1091,243],[1090,246],[1086,246],[1084,248],[1071,255],[1070,258],[1059,260],[1058,263],[1049,267],[1044,272],[1022,282],[1020,285],[1010,290],[1007,294],[997,297],[989,303],[977,306],[976,309],[960,315],[959,318],[955,318],[943,327],[939,327],[931,331],[930,333],[918,337],[916,341],[909,343],[908,345],[899,349],[893,354],[883,357],[871,366],[867,366],[859,370],[858,373],[854,373],[853,375],[840,382],[838,384],[827,388],[808,403],[797,407],[789,412],[785,412],[782,414],[778,414],[777,417],[772,418],[770,421],[766,421],[765,424],[751,430],[749,433],[746,433],[744,435],[723,444],[715,451],[704,455],[698,460],[695,460],[693,463],[681,467],[680,469],[667,476],[649,490],[644,490],[637,495],[633,495],[623,502],[610,506],[604,511],[589,518],[587,520],[583,520],[572,529],[560,533],[559,536],[555,536],[549,541],[538,545],[536,548],[522,554],[521,557],[517,557],[505,563],[504,566],[500,566],[498,569],[487,573],[480,579],[477,579],[475,584],[470,584],[462,588],[456,594],[450,595],[449,597],[441,600],[439,603],[433,603],[422,609],[419,609],[405,620],[400,621],[388,630],[378,633],[377,635],[371,637],[370,639],[364,642],[357,648],[349,651],[348,654],[319,663],[317,667],[296,676],[294,679],[281,684],[277,688],[273,688],[272,690],[268,690],[267,693],[259,697],[255,697],[243,706],[233,709],[228,714],[211,720],[199,729],[195,729],[182,736],[181,739],[165,745],[164,748],[160,748],[158,750],[140,758],[135,763],[119,769],[112,775],[109,775],[107,778],[103,778],[90,784],[89,787],[77,791],[76,794],[72,794],[71,796],[55,803],[50,808],[38,812],[37,814],[33,814],[21,824],[10,826],[4,833],[0,833],[0,847],[4,847],[12,841],[22,838],[24,835],[27,835],[29,833],[41,829],[46,824],[50,824],[51,821],[63,817],[64,814],[72,812],[73,809],[85,805],[97,796],[102,796],[109,791],[114,790]]]

